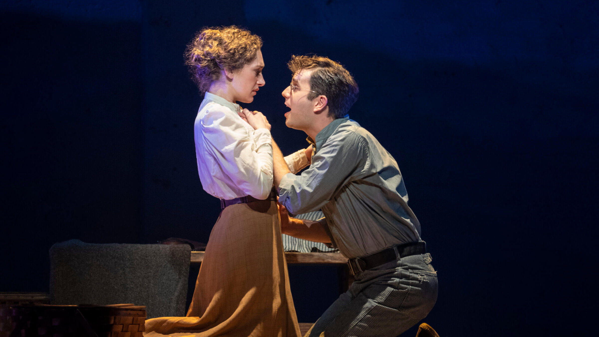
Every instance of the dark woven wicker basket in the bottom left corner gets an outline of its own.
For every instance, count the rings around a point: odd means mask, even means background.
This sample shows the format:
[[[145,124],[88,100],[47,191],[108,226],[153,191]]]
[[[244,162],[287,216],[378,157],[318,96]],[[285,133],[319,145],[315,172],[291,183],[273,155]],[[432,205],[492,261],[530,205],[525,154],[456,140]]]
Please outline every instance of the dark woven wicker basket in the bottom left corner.
[[[146,307],[117,305],[28,305],[11,308],[13,336],[142,337]]]

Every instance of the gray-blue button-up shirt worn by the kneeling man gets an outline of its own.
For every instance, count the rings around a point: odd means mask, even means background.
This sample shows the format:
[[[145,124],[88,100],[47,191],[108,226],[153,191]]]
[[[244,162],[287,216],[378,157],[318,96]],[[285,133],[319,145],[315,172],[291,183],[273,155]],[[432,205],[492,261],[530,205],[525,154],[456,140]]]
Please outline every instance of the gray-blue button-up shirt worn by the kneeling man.
[[[290,213],[322,209],[325,229],[347,258],[420,240],[397,161],[371,133],[340,118],[315,144],[310,167],[286,174],[279,185],[279,202]]]

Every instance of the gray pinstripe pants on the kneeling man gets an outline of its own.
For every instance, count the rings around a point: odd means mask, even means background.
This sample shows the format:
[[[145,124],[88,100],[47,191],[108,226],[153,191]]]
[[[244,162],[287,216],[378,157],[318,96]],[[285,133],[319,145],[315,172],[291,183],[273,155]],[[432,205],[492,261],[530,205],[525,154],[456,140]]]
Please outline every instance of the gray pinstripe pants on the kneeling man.
[[[355,275],[305,337],[395,337],[425,318],[437,301],[430,254],[399,258]]]

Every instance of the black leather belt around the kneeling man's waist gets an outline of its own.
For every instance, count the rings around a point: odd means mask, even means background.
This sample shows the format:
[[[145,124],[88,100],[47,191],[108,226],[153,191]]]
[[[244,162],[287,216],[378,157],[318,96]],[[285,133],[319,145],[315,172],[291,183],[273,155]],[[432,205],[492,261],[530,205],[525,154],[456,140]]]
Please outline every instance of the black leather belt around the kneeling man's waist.
[[[349,272],[355,275],[364,270],[378,267],[381,264],[385,264],[389,261],[393,261],[396,258],[402,258],[410,255],[425,254],[426,242],[410,242],[404,243],[403,245],[393,245],[389,248],[385,248],[382,251],[373,252],[362,257],[350,258],[347,261],[349,264]]]

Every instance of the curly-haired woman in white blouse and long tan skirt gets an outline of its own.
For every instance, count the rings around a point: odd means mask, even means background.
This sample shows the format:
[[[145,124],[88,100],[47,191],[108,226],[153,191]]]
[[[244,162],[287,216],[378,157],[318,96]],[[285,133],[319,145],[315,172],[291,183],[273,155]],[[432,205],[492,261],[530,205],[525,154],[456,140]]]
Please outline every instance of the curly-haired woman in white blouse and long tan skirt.
[[[187,46],[198,88],[199,177],[223,208],[210,233],[187,317],[146,321],[147,335],[299,336],[273,187],[270,124],[241,109],[264,86],[262,41],[235,26],[208,28]],[[297,171],[310,149],[287,158]]]

